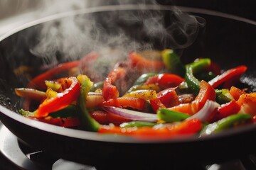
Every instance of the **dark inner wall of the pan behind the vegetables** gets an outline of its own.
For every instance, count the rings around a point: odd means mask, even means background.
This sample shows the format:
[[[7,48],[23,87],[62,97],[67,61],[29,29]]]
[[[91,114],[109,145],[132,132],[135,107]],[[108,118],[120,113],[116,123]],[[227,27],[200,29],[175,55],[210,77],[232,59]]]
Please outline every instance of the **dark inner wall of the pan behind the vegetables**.
[[[112,6],[109,11],[79,11],[65,17],[54,16],[52,21],[48,18],[47,22],[24,28],[2,40],[1,106],[17,112],[22,106],[22,100],[14,94],[14,88],[26,86],[32,77],[58,63],[78,60],[91,51],[105,47],[117,48],[121,55],[130,50],[173,48],[184,63],[197,57],[209,57],[223,69],[245,64],[248,70],[242,77],[240,86],[256,91],[256,31],[253,23],[225,18],[222,13],[213,15],[206,11],[200,13],[193,9],[190,12],[189,8],[183,8],[186,14],[204,18],[206,26],[198,28],[193,43],[180,47],[174,45],[162,32],[151,32],[153,30],[146,29],[144,25],[146,21],[148,26],[151,26],[152,21],[160,21],[162,25],[159,28],[169,28],[169,17],[174,15],[173,10],[167,10],[166,6],[149,6],[149,9],[141,10],[136,8],[138,7],[129,6],[130,10],[116,10]],[[70,25],[74,23],[75,27]],[[66,30],[66,27],[72,29]],[[57,41],[54,41],[55,39]],[[27,68],[19,70],[23,66]]]

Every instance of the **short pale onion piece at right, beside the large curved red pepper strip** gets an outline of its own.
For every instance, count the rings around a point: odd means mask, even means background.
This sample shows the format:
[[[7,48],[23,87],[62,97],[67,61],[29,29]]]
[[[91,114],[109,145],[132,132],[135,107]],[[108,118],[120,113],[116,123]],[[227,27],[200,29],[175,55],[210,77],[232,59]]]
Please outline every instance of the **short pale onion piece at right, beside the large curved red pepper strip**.
[[[199,120],[206,122],[210,115],[213,113],[213,111],[220,106],[218,103],[215,101],[206,101],[206,104],[201,108],[198,113],[191,115],[191,117],[187,118],[192,119],[192,118],[198,118]]]

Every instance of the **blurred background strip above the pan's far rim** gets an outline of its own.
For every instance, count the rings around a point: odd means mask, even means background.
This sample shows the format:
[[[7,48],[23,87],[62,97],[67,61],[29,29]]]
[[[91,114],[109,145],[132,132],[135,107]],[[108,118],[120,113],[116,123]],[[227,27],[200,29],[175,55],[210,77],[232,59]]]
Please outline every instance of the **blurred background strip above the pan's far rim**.
[[[255,0],[0,0],[0,21],[10,16],[21,13],[38,11],[41,15],[65,11],[70,6],[73,8],[86,8],[90,6],[105,6],[112,4],[163,4],[177,6],[191,6],[207,8],[224,13],[235,14],[256,20]]]

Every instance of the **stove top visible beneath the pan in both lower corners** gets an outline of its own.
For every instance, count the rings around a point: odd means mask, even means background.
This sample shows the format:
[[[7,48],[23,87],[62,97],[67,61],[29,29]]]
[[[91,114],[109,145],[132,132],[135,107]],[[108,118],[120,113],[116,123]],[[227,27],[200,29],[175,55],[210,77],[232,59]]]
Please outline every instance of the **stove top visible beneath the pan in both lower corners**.
[[[4,157],[3,157],[4,155]],[[7,165],[2,163],[3,159],[7,159]],[[5,163],[6,163],[5,162]],[[10,164],[11,162],[11,164]],[[4,164],[4,169],[28,169],[28,170],[65,170],[65,169],[79,169],[79,170],[99,170],[104,167],[93,167],[85,164],[78,164],[70,162],[65,159],[55,158],[45,154],[42,151],[35,150],[28,145],[24,144],[17,137],[12,134],[0,122],[0,169],[1,164]],[[195,168],[198,170],[247,170],[256,169],[256,156],[250,155],[245,159],[233,160],[232,162],[225,162],[224,164],[212,164],[203,166],[198,164]],[[122,168],[123,169],[123,168]],[[125,168],[124,168],[125,169]],[[182,169],[182,168],[181,168]],[[181,170],[180,169],[180,170]],[[194,167],[193,167],[194,169]]]

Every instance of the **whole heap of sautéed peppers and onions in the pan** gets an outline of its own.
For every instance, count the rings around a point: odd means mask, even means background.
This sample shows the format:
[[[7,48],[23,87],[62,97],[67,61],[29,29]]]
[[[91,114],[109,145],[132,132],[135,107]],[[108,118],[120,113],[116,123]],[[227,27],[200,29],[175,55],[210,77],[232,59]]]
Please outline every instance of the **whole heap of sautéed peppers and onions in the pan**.
[[[221,72],[208,58],[184,64],[170,49],[130,52],[100,79],[88,69],[99,60],[92,52],[15,89],[24,98],[19,113],[66,128],[147,139],[201,137],[255,122],[256,93],[237,86],[244,65]]]

